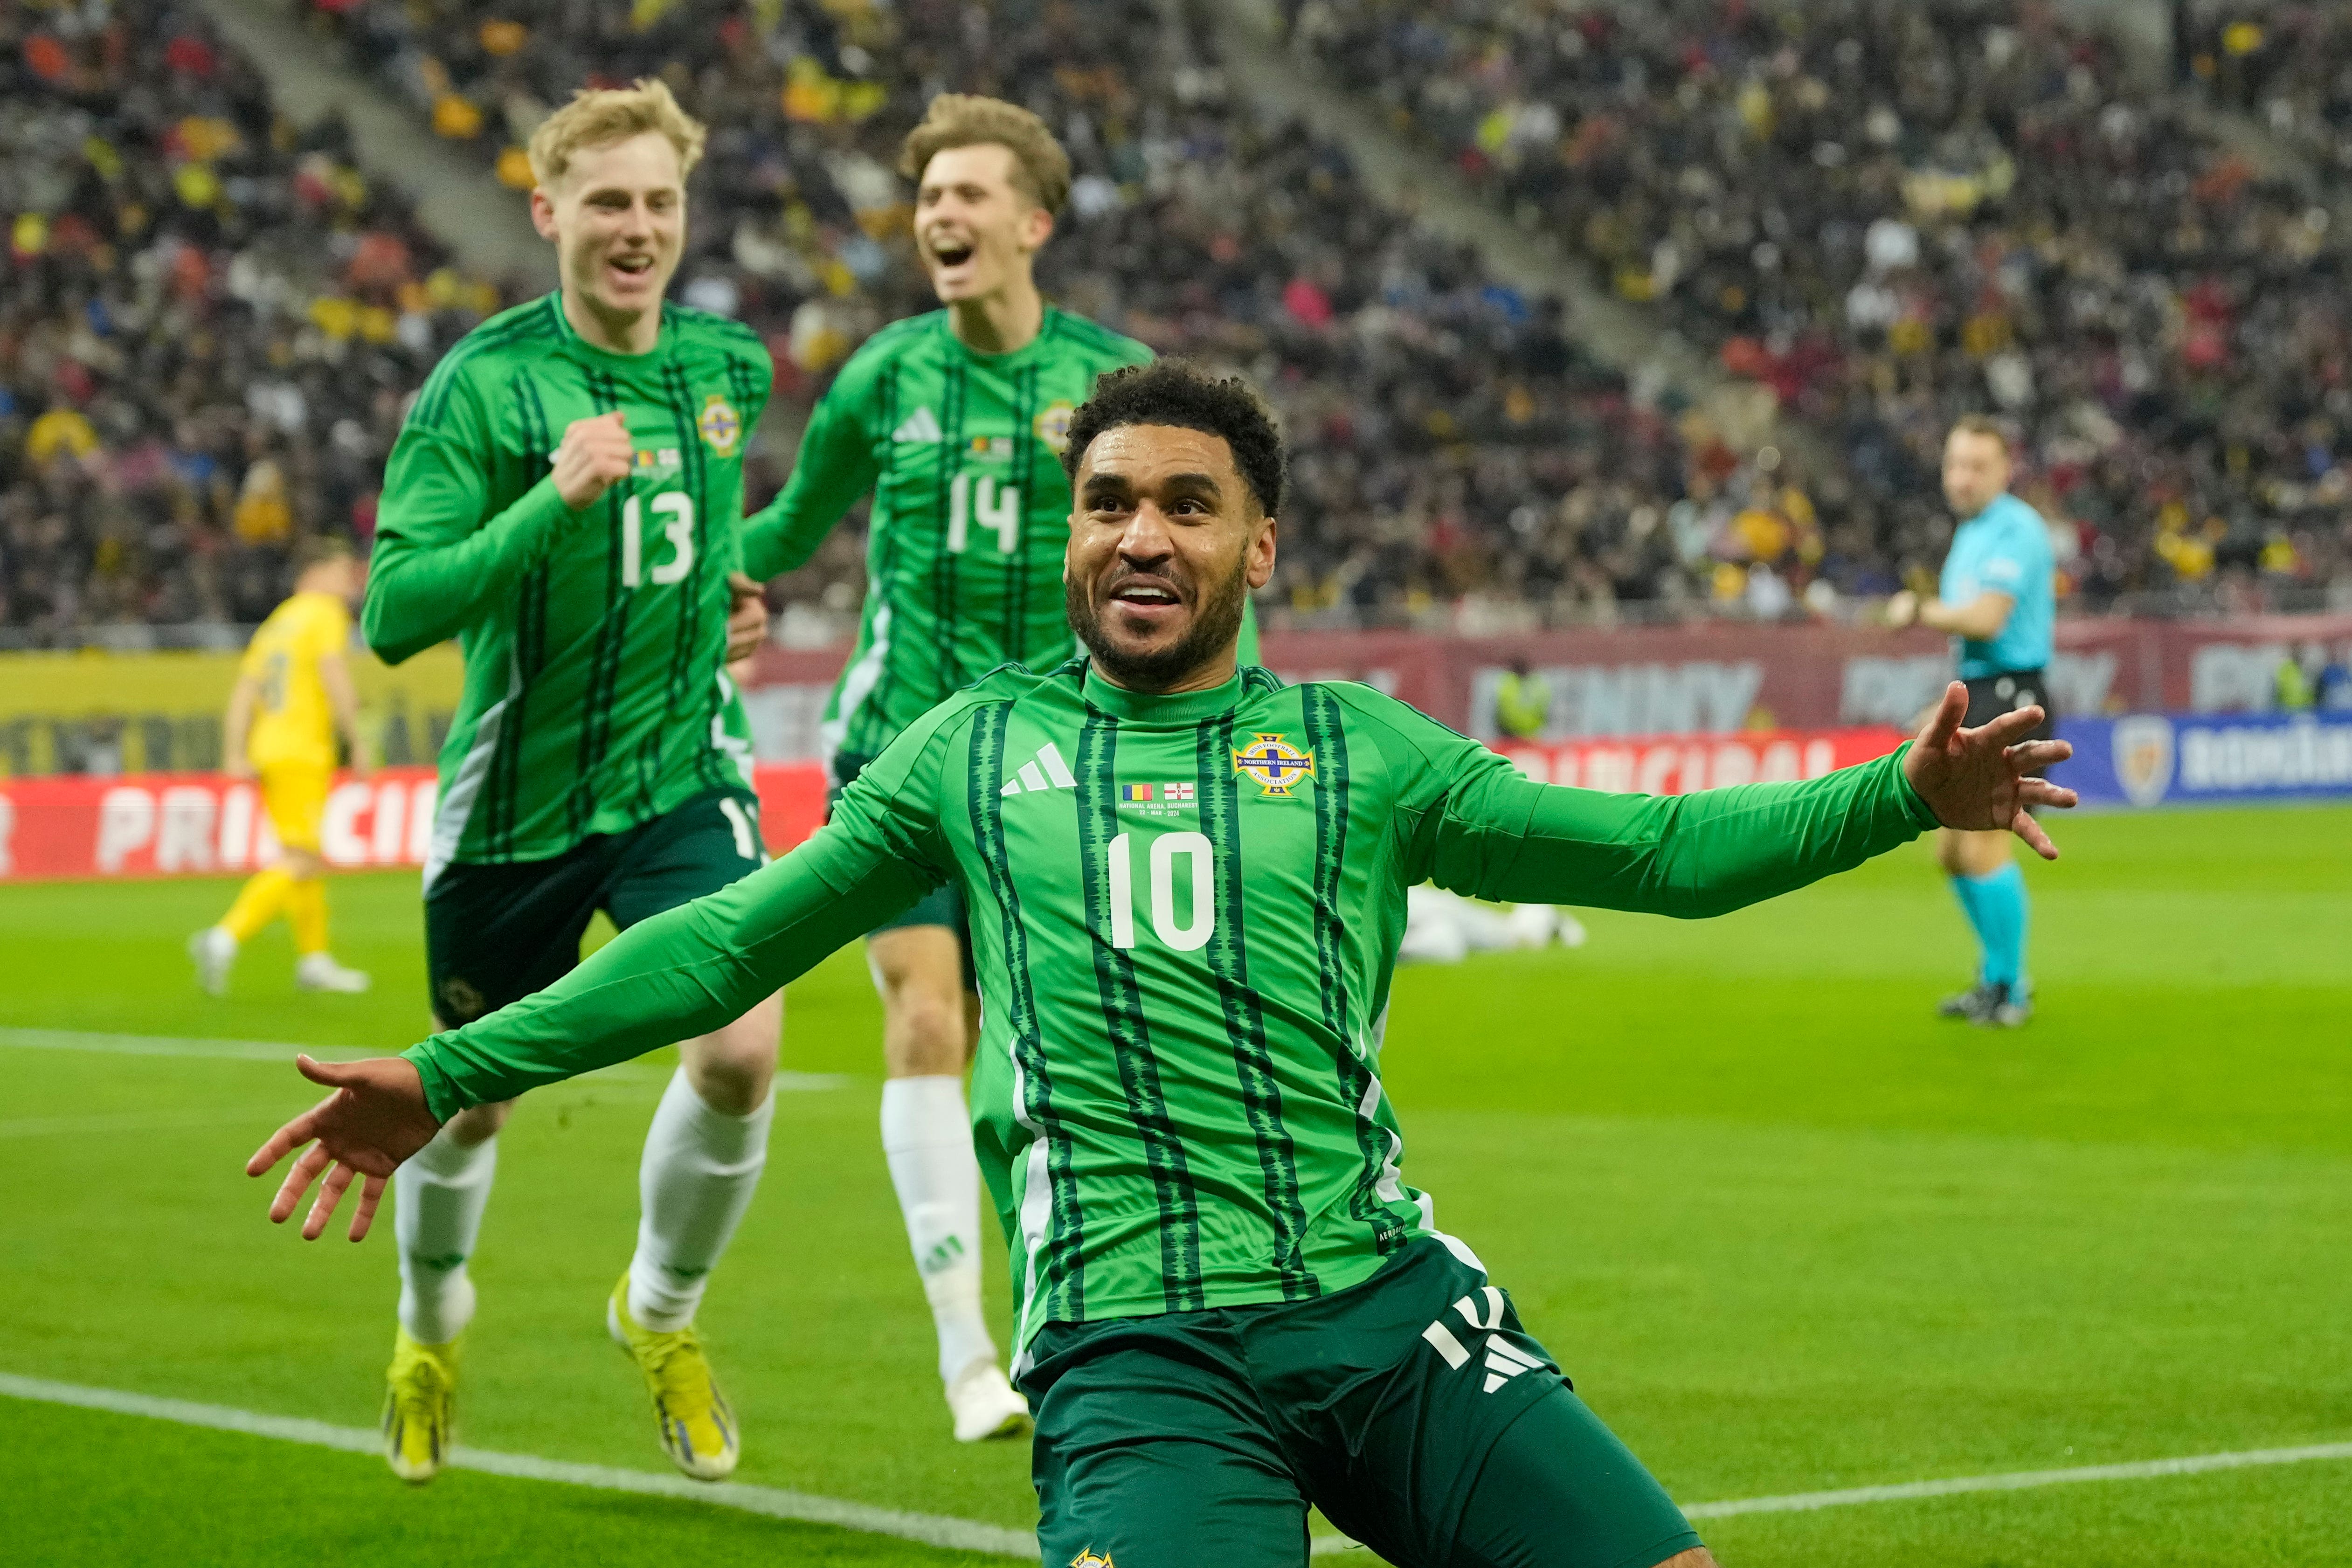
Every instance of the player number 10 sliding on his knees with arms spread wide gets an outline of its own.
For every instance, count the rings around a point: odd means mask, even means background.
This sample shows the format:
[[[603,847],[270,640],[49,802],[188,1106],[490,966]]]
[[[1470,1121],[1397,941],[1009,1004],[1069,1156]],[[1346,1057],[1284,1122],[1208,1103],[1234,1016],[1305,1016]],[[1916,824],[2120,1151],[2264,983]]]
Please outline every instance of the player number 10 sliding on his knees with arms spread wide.
[[[1404,1185],[1381,1091],[1404,893],[1703,917],[1940,825],[2072,792],[2034,724],[1919,738],[1809,783],[1675,799],[1538,785],[1369,686],[1237,670],[1275,569],[1282,442],[1240,381],[1105,376],[1070,425],[1065,602],[1087,658],[941,703],[833,823],[546,992],[334,1093],[249,1173],[327,1173],[325,1232],[466,1105],[734,1016],[953,882],[988,1001],[976,1143],[1011,1244],[1047,1563],[1298,1568],[1308,1505],[1392,1563],[1708,1563],[1689,1523]],[[1188,813],[1129,804],[1190,785]]]

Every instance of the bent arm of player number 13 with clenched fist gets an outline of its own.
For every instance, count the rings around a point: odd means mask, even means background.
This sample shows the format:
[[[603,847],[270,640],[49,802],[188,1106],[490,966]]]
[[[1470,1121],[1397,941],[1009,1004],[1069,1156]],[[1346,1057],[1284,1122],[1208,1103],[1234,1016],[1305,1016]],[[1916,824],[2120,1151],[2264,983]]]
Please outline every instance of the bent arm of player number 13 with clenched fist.
[[[487,430],[468,425],[487,421],[463,397],[452,404],[445,423],[409,418],[383,475],[360,630],[395,665],[480,621],[633,461],[621,414],[576,418],[550,454],[548,475],[485,520],[482,454],[494,447]]]

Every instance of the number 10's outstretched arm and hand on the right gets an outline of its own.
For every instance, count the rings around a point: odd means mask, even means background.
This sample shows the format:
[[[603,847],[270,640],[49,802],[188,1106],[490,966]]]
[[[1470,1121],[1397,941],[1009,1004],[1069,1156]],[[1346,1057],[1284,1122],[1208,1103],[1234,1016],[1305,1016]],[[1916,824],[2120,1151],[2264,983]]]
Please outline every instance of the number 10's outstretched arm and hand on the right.
[[[1663,799],[1538,785],[1472,762],[1425,827],[1430,875],[1479,898],[1696,919],[1851,870],[1936,825],[2011,827],[2056,858],[2025,809],[2072,806],[2074,792],[2027,773],[2070,748],[2018,743],[2039,708],[1959,729],[1966,705],[1955,682],[1917,741],[1863,766]]]

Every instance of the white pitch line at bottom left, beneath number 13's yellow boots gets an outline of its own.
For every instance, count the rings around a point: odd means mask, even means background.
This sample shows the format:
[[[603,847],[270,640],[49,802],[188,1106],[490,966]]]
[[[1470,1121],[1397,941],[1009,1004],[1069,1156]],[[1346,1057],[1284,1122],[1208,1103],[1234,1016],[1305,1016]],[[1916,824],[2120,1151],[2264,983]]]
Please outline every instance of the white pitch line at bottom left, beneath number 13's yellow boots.
[[[16,1378],[0,1373],[0,1394],[12,1399],[38,1399],[42,1403],[80,1406],[85,1410],[111,1410],[115,1415],[146,1415],[176,1422],[181,1427],[209,1427],[214,1432],[242,1432],[247,1436],[275,1436],[287,1443],[310,1443],[313,1448],[341,1448],[343,1453],[381,1453],[383,1436],[372,1427],[334,1427],[322,1420],[294,1415],[261,1415],[230,1406],[205,1406],[186,1399],[155,1399],[151,1394],[127,1394],[120,1389],[89,1389],[73,1382],[49,1382],[47,1378]],[[1037,1556],[1033,1530],[1007,1530],[1004,1526],[971,1519],[946,1519],[941,1514],[908,1514],[866,1502],[842,1502],[814,1493],[793,1493],[779,1486],[746,1486],[741,1481],[687,1481],[684,1476],[661,1476],[644,1469],[619,1469],[612,1465],[572,1465],[543,1460],[534,1453],[494,1453],[489,1448],[456,1448],[449,1455],[454,1469],[480,1469],[492,1476],[517,1481],[553,1481],[557,1486],[590,1486],[607,1493],[635,1493],[640,1497],[675,1497],[680,1502],[703,1502],[769,1519],[793,1519],[797,1523],[830,1523],[842,1530],[866,1535],[889,1535],[913,1540],[924,1547],[960,1547],[964,1552],[995,1552],[1000,1556]]]

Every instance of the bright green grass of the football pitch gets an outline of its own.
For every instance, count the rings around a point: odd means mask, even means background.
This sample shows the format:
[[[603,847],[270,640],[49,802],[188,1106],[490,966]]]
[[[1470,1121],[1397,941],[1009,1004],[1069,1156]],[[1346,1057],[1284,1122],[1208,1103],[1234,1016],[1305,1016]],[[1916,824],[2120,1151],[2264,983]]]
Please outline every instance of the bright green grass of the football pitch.
[[[1966,933],[1924,846],[1724,922],[1406,971],[1385,1072],[1406,1175],[1592,1406],[1689,1502],[2343,1441],[2352,1368],[2352,811],[2103,816],[2030,867],[2042,1013],[1933,1020]],[[409,1044],[412,877],[334,884],[367,997],[292,990],[282,926],[226,1001],[181,940],[226,882],[0,891],[0,1025]],[[703,1309],[739,1479],[1004,1526],[1021,1446],[960,1448],[875,1147],[877,1009],[793,987],[767,1185]],[[510,1124],[475,1276],[466,1441],[659,1469],[602,1335],[663,1072]],[[306,1100],[270,1063],[0,1048],[0,1368],[367,1425],[388,1229],[303,1248],[238,1166]],[[1002,1253],[990,1307],[1004,1319]],[[0,1401],[12,1561],[953,1563],[677,1502]],[[1705,1526],[1726,1563],[2345,1563],[2352,1465]]]

